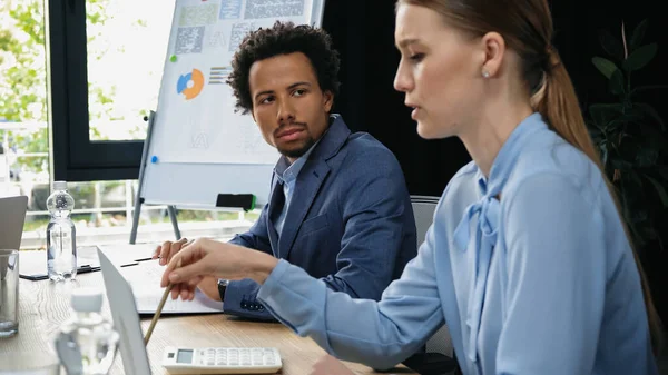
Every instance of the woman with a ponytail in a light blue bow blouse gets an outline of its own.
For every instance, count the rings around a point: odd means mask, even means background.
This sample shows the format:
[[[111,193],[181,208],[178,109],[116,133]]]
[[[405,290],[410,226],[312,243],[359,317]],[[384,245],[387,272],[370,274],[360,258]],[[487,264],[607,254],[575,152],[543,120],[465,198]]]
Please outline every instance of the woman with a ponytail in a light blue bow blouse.
[[[551,38],[546,0],[399,1],[394,86],[420,136],[456,136],[473,161],[382,300],[207,239],[163,286],[190,299],[203,276],[250,277],[277,319],[374,368],[448,324],[465,374],[657,374],[651,299]]]

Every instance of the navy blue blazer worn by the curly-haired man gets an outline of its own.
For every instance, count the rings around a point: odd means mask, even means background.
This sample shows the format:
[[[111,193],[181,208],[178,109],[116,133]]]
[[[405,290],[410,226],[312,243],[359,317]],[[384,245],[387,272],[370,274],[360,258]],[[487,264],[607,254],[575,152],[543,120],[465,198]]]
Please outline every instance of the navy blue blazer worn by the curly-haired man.
[[[377,300],[416,255],[411,198],[394,155],[369,134],[351,134],[340,116],[332,119],[297,175],[282,235],[271,219],[282,194],[273,178],[259,218],[230,243],[286,259],[333,290]],[[224,312],[274,319],[257,289],[250,279],[230,282]]]

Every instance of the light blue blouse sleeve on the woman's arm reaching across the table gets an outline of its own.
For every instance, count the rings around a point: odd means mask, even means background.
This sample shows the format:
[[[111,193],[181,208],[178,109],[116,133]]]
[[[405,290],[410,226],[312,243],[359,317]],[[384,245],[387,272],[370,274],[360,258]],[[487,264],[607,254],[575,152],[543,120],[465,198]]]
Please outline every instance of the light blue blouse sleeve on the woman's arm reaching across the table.
[[[433,235],[380,302],[354,299],[279,260],[258,299],[299,336],[330,354],[387,369],[415,353],[444,323],[436,288]]]

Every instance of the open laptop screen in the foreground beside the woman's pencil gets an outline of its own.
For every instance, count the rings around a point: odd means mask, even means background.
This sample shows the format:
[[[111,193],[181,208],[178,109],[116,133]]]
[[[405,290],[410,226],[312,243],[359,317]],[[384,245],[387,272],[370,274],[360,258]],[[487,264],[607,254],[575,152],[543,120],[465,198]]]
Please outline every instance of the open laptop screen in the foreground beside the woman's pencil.
[[[111,307],[114,327],[120,335],[119,351],[125,373],[150,375],[148,354],[144,346],[132,287],[120,273],[120,268],[100,248],[98,248],[98,257],[102,268],[107,299]]]

